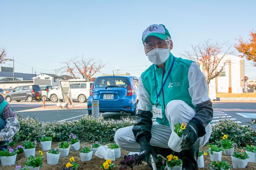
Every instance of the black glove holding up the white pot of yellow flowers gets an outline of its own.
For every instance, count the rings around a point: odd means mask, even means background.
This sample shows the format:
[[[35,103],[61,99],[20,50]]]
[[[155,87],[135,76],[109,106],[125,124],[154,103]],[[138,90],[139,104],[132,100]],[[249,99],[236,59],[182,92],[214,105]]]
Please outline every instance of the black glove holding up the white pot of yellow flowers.
[[[182,150],[188,150],[198,139],[198,125],[195,120],[191,120],[182,135]]]

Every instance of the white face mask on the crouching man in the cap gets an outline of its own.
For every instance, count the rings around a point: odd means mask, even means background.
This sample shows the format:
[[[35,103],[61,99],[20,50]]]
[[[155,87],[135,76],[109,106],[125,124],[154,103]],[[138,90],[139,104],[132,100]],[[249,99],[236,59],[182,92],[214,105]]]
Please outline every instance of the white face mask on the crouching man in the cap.
[[[169,48],[155,48],[147,53],[148,60],[156,65],[161,65],[165,63],[169,55]]]

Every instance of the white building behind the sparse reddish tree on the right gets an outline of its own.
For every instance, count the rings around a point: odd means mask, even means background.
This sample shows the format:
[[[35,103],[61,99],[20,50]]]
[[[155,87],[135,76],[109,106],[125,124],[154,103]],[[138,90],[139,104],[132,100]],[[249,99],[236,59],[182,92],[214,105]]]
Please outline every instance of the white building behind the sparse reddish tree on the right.
[[[223,55],[220,55],[223,56]],[[216,91],[221,93],[243,93],[244,89],[244,60],[235,55],[226,55],[223,62],[228,60],[223,71],[215,79],[212,79],[209,86],[216,86]],[[221,69],[223,64],[218,66]]]

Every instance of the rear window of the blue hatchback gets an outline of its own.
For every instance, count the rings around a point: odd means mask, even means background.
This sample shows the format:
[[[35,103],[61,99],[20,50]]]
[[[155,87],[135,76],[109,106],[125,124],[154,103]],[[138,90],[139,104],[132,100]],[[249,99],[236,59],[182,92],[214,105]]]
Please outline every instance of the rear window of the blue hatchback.
[[[125,77],[100,77],[95,80],[93,88],[121,87],[127,88],[129,81]]]

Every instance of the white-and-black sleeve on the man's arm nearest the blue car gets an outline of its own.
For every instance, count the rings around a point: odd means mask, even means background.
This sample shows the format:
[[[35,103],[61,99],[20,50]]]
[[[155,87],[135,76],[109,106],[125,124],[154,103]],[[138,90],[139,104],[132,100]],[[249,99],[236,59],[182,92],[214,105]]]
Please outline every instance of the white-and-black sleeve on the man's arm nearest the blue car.
[[[152,104],[150,102],[150,95],[145,90],[141,77],[139,78],[139,103],[138,113],[136,114],[137,123],[134,124],[132,132],[135,140],[139,143],[143,138],[151,139]]]

